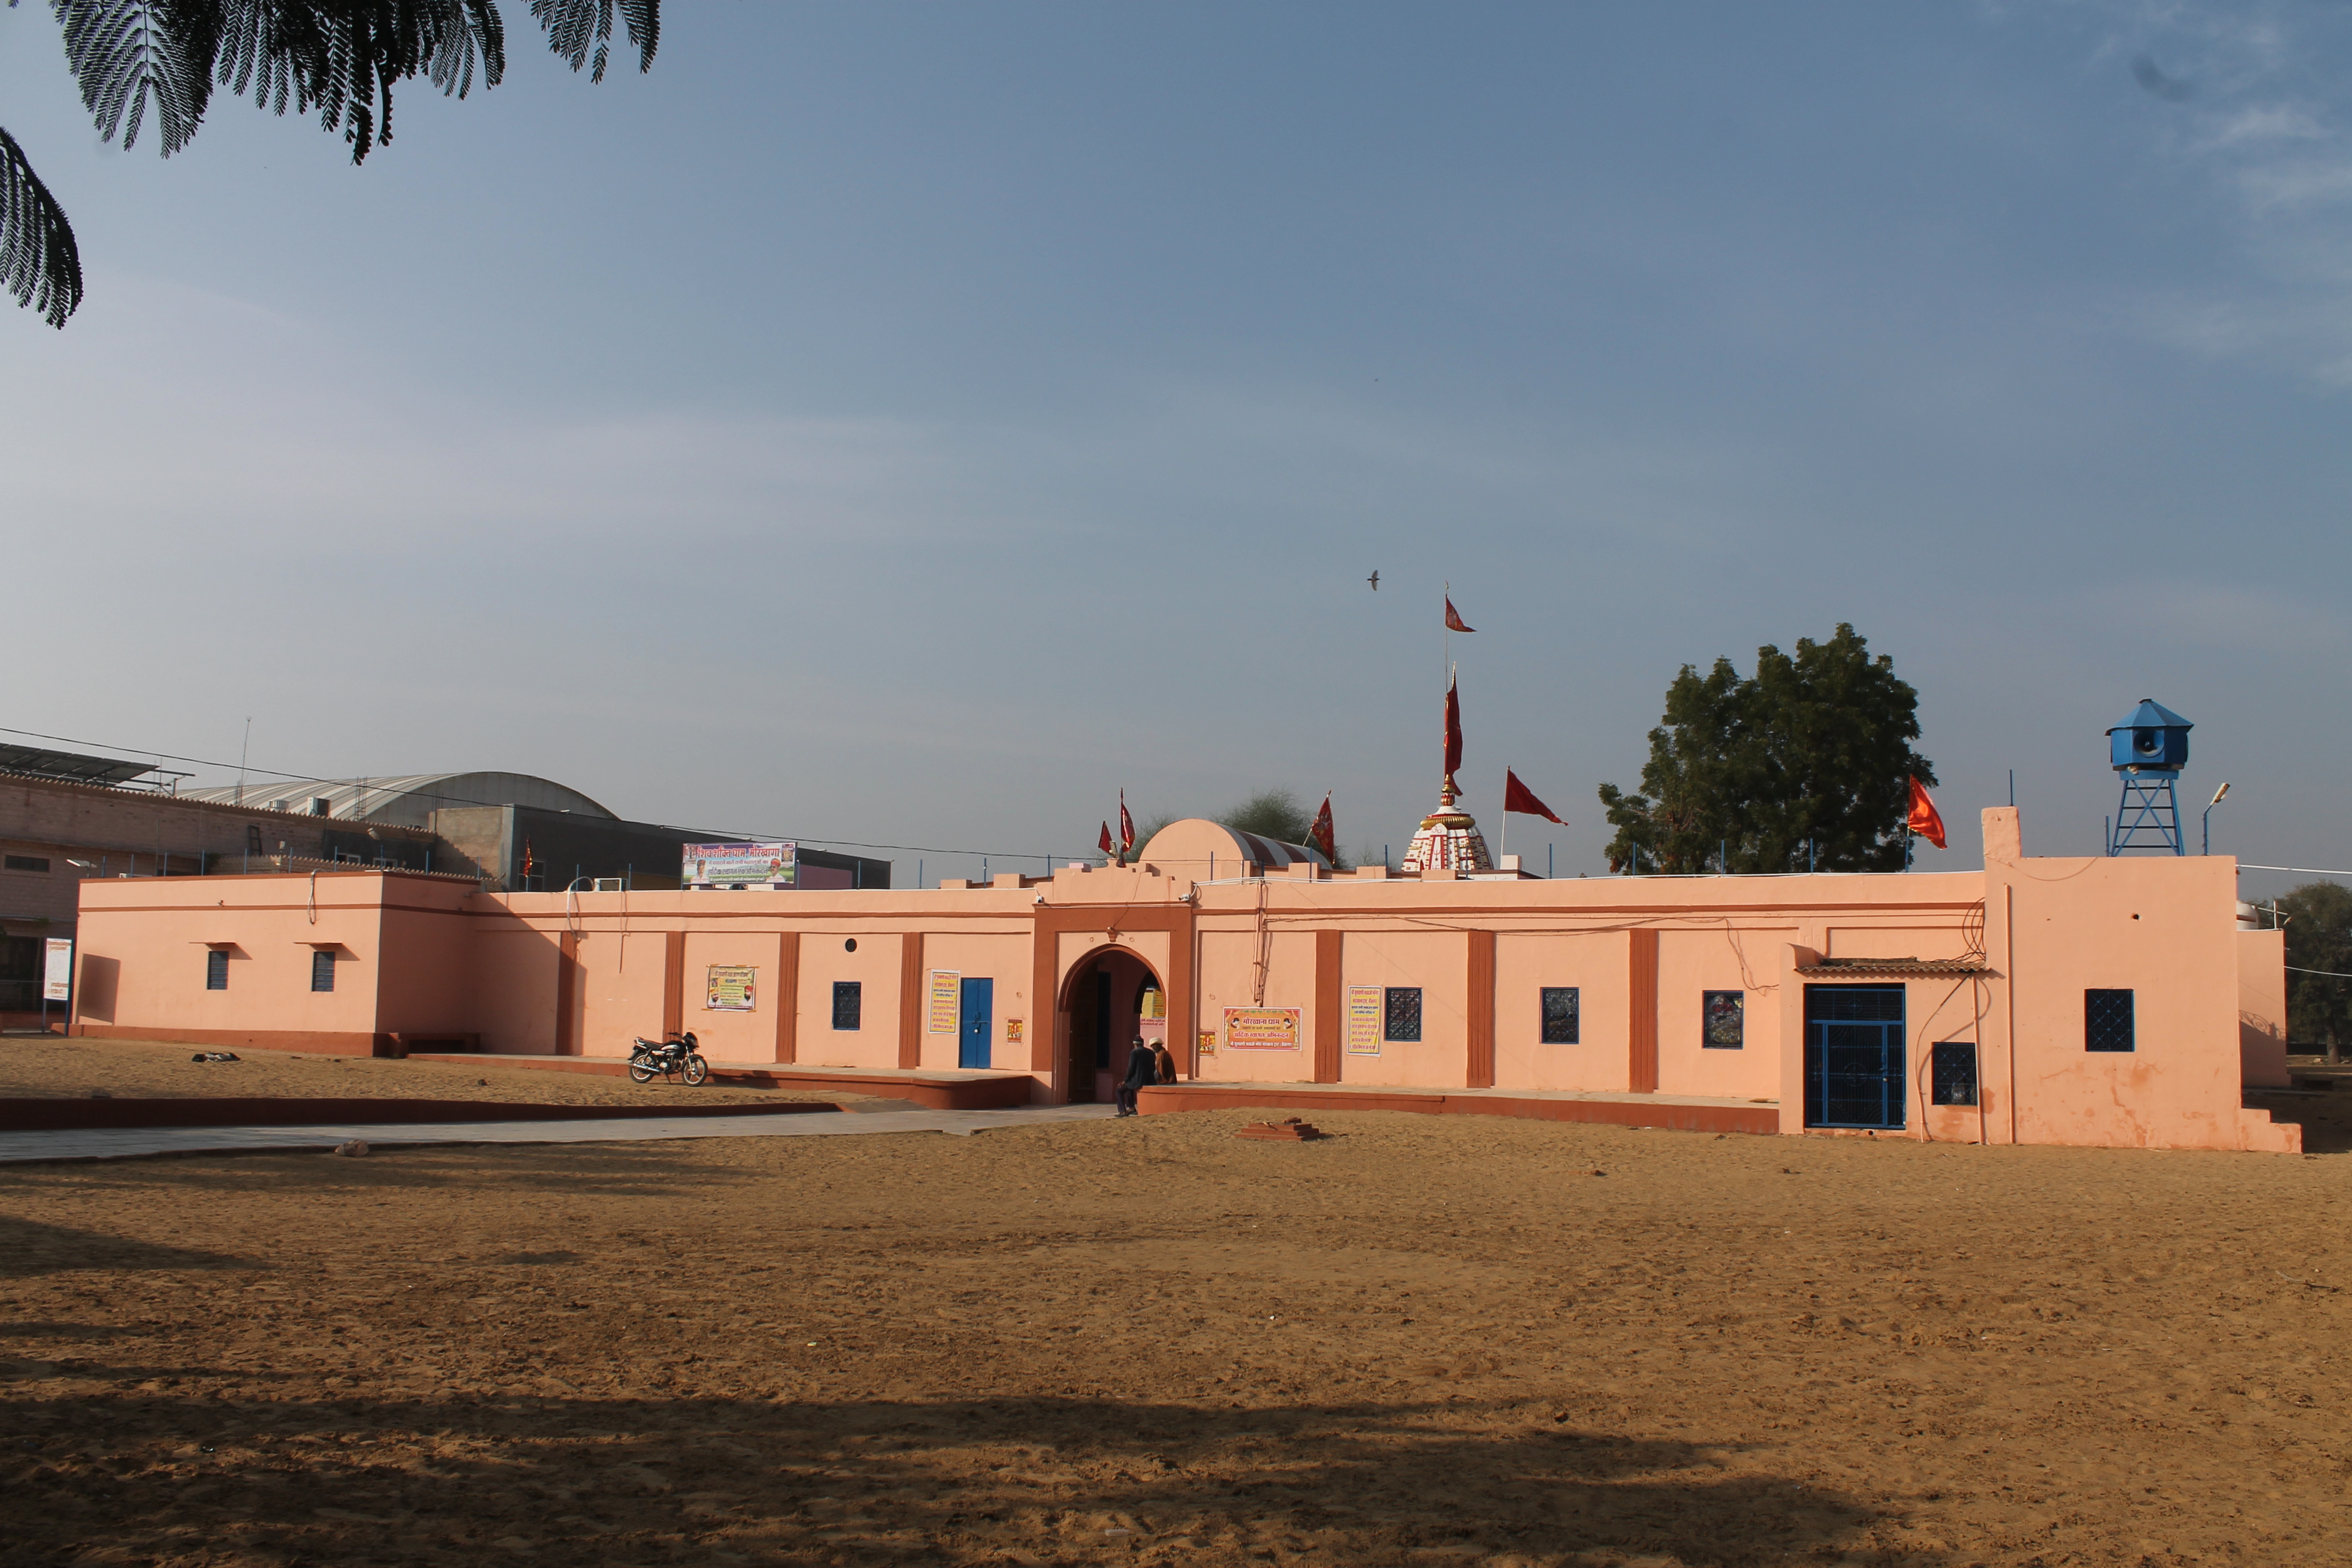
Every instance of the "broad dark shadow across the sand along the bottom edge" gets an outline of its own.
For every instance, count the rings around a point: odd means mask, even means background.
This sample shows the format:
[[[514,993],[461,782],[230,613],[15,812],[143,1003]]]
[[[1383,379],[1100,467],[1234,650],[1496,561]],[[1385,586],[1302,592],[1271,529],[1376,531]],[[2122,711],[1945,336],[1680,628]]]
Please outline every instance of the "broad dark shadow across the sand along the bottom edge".
[[[14,1561],[179,1561],[193,1540],[238,1563],[1945,1561],[1731,1448],[1461,1403],[139,1389],[14,1399],[0,1425]]]

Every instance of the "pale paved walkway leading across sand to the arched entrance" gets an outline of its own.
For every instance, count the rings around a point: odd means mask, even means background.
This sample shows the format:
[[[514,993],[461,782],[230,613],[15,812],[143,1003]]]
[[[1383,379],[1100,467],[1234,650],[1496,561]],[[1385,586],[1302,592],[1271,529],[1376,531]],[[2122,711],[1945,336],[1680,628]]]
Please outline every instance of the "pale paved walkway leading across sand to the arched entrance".
[[[647,1143],[661,1138],[840,1138],[854,1133],[953,1133],[969,1138],[1000,1126],[1096,1121],[1108,1105],[1030,1105],[1021,1110],[877,1110],[807,1117],[637,1117],[595,1121],[395,1121],[320,1126],[132,1126],[0,1133],[0,1166],[47,1159],[136,1159],[226,1150],[332,1150],[421,1143]]]

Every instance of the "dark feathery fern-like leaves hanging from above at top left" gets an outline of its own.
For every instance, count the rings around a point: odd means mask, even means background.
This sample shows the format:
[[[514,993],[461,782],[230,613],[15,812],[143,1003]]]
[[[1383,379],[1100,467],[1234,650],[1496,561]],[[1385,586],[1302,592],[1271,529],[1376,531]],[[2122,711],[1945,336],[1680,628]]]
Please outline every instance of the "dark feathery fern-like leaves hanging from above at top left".
[[[16,0],[7,0],[9,7]],[[66,66],[106,141],[129,148],[148,113],[165,158],[205,122],[212,87],[254,94],[280,115],[318,110],[350,162],[393,139],[393,82],[423,75],[463,99],[506,78],[506,21],[494,0],[49,0]],[[652,71],[661,0],[532,0],[548,47],[604,80],[619,14],[637,68]],[[82,254],[66,209],[0,129],[0,292],[52,327],[82,303]]]

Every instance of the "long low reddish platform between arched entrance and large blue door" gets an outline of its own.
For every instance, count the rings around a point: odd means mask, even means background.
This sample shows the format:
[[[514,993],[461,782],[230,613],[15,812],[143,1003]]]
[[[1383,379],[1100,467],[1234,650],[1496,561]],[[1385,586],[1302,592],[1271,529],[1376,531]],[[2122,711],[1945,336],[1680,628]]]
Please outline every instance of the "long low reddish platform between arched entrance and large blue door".
[[[1682,1133],[1778,1133],[1778,1100],[1715,1095],[1571,1093],[1545,1088],[1406,1088],[1388,1084],[1155,1084],[1136,1095],[1143,1114],[1188,1110],[1402,1110],[1423,1117],[1519,1117],[1604,1121]]]

